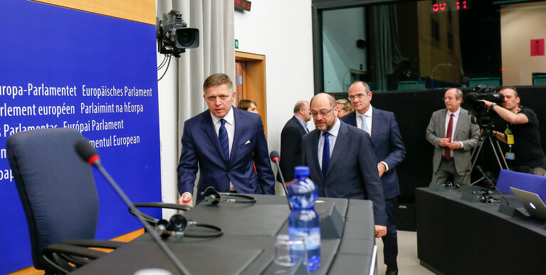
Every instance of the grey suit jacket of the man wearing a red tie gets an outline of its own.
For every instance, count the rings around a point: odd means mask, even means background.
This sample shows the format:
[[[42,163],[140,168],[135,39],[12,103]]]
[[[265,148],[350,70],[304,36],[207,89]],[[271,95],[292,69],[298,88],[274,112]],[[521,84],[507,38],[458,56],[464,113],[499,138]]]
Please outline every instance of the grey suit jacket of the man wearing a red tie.
[[[429,126],[426,127],[426,140],[434,146],[434,156],[432,157],[432,171],[434,173],[438,170],[443,155],[444,147],[440,146],[440,139],[446,137],[447,112],[447,109],[440,109],[432,113]],[[478,144],[478,136],[480,136],[480,127],[471,123],[471,115],[461,107],[453,134],[453,141],[463,143],[463,149],[453,150],[453,161],[455,161],[455,168],[460,175],[464,175],[464,171],[470,164],[471,149]]]

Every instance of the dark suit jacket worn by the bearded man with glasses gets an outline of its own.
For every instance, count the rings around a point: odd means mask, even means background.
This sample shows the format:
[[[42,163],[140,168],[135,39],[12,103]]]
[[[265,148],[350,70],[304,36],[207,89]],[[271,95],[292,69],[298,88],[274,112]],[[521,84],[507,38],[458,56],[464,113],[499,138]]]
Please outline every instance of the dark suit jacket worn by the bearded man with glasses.
[[[309,166],[310,178],[317,185],[318,195],[327,198],[372,200],[375,224],[387,225],[383,188],[369,136],[366,132],[341,122],[324,177],[317,153],[321,134],[322,131],[315,129],[305,134],[302,140],[303,165]]]

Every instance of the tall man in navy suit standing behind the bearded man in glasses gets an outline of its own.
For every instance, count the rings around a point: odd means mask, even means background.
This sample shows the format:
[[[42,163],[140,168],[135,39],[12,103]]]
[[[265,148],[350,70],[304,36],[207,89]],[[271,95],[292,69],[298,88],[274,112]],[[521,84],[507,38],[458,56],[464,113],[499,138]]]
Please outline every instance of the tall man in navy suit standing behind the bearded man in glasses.
[[[387,264],[387,274],[398,274],[398,241],[394,217],[400,187],[396,167],[406,156],[406,149],[394,114],[376,109],[369,104],[372,100],[372,92],[366,82],[352,83],[349,88],[349,99],[355,112],[345,115],[341,120],[363,129],[372,137],[377,157],[377,170],[383,184],[385,210],[387,210],[387,235],[382,238],[384,261]]]

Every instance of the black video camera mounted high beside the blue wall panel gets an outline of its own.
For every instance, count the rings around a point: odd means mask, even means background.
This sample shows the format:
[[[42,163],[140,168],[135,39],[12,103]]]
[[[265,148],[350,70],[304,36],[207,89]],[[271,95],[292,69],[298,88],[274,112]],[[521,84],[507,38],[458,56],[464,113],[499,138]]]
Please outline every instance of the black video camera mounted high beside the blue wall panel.
[[[187,28],[182,14],[175,10],[163,14],[163,20],[156,17],[156,37],[159,53],[175,58],[187,48],[199,47],[199,29]]]

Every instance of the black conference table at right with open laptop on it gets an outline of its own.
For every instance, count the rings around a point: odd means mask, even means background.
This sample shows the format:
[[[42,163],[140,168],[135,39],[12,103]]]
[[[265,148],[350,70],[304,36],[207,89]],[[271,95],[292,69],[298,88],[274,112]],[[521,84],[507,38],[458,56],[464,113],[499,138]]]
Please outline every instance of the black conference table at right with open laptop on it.
[[[523,216],[482,203],[483,188],[417,188],[417,253],[437,274],[546,274],[546,230],[514,195],[505,195]],[[496,195],[495,195],[496,194]]]

